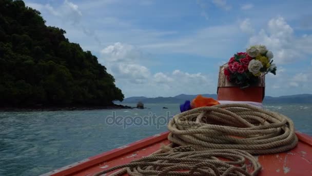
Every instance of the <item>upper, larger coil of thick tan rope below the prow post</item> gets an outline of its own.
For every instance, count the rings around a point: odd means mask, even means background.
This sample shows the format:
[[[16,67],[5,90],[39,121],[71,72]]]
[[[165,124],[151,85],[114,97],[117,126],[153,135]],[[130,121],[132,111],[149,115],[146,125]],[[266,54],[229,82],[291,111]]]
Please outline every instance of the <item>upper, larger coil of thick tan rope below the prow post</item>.
[[[248,104],[221,104],[175,115],[168,139],[196,150],[241,149],[250,154],[293,149],[298,138],[288,117]]]

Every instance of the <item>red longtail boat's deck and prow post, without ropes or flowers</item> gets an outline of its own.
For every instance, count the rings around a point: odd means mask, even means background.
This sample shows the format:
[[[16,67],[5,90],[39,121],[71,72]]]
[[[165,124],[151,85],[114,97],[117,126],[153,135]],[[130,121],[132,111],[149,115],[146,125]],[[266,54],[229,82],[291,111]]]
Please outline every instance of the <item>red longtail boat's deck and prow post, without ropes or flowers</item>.
[[[262,104],[265,91],[264,77],[260,79],[258,86],[251,86],[242,90],[226,81],[222,69],[223,67],[220,69],[217,91],[220,102],[235,101]],[[155,134],[43,175],[91,176],[102,170],[127,164],[157,152],[162,145],[171,143],[167,138],[168,134],[169,132]],[[255,156],[262,166],[258,175],[312,175],[312,137],[299,131],[296,132],[296,135],[299,143],[295,148],[282,153]]]

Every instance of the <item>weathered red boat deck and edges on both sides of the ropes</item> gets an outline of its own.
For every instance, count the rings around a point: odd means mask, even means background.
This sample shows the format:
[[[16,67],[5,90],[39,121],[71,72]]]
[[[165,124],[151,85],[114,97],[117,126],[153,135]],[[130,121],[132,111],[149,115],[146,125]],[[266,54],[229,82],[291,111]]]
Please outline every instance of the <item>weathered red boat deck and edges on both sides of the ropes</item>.
[[[129,163],[158,151],[162,144],[170,144],[170,141],[167,140],[168,134],[169,132],[157,134],[43,175],[91,176],[102,170]],[[257,156],[262,165],[259,175],[312,175],[312,137],[299,132],[296,134],[299,143],[293,150]]]

